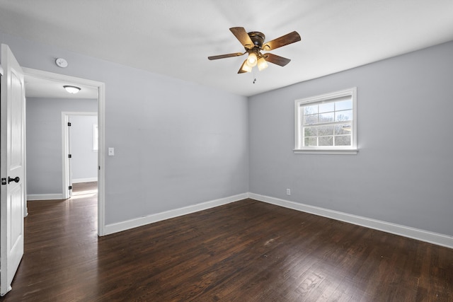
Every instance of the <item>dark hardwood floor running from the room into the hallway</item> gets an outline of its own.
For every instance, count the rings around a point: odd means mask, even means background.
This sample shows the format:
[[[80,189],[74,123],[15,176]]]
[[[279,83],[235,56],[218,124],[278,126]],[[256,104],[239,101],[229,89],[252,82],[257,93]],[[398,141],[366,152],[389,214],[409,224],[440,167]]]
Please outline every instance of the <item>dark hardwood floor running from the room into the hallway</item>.
[[[98,238],[84,190],[28,202],[0,301],[453,301],[449,248],[252,199]]]

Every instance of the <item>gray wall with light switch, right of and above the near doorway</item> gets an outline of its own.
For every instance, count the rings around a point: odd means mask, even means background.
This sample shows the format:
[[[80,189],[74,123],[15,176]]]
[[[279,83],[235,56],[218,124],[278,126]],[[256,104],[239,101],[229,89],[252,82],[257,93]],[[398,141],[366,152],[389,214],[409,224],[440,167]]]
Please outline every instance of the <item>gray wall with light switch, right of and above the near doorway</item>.
[[[248,192],[247,98],[4,33],[0,42],[21,66],[105,83],[105,146],[115,148],[105,223]]]

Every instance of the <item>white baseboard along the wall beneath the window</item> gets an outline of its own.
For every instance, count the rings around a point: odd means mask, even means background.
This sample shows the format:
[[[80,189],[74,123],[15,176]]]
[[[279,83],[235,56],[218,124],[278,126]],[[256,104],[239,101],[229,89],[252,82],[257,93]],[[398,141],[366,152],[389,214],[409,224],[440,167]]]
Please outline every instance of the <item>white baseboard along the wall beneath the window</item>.
[[[297,211],[304,211],[306,213],[315,214],[318,216],[328,217],[339,221],[356,224],[358,226],[365,226],[367,228],[374,228],[375,230],[392,233],[399,236],[413,238],[420,241],[425,241],[435,245],[442,245],[446,248],[453,248],[453,236],[447,236],[440,233],[433,233],[430,231],[420,230],[418,228],[411,228],[409,226],[401,226],[396,223],[389,223],[376,219],[369,219],[363,216],[343,213],[340,211],[333,211],[323,209],[321,207],[314,207],[308,204],[300,204],[298,202],[289,202],[288,200],[278,199],[275,197],[268,197],[260,194],[248,193],[248,198],[256,199],[260,202],[267,202],[275,204],[280,207],[294,209]]]

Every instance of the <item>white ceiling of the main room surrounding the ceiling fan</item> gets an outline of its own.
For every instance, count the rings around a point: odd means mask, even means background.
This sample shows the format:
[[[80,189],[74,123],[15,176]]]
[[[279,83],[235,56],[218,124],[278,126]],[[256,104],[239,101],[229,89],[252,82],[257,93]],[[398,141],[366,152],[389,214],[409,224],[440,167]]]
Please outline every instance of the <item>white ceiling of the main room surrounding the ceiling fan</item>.
[[[237,74],[244,57],[207,59],[243,52],[236,26],[302,42],[272,51],[285,67]],[[451,41],[453,1],[0,0],[0,30],[249,96]]]

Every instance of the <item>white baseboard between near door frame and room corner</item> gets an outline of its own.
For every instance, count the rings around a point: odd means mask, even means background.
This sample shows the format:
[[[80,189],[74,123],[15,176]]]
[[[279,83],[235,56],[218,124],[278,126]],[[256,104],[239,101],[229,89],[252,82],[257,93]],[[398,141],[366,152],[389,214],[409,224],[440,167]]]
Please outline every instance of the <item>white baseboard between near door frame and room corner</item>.
[[[185,214],[194,213],[196,211],[202,211],[213,207],[222,206],[223,204],[229,204],[231,202],[237,202],[242,199],[248,198],[248,193],[238,194],[231,197],[225,197],[221,199],[211,200],[210,202],[202,202],[200,204],[194,204],[192,206],[174,209],[170,211],[164,211],[157,214],[139,217],[137,219],[130,219],[118,223],[107,224],[104,228],[104,235],[113,234],[121,231],[126,231],[130,228],[137,228],[138,226],[144,226],[149,223],[162,221],[165,219],[171,219],[177,216],[183,216]]]

